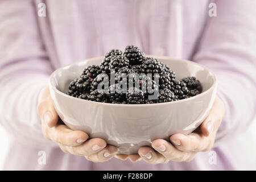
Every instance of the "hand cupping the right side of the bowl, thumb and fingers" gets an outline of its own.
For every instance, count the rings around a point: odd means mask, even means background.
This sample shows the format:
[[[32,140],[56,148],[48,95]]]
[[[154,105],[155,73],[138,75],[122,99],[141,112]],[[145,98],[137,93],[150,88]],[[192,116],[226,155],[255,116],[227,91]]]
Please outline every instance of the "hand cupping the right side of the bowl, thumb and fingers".
[[[139,148],[139,155],[129,155],[129,158],[132,162],[142,158],[150,164],[166,163],[169,160],[189,162],[197,152],[208,151],[212,148],[224,113],[224,104],[220,98],[216,97],[210,113],[197,132],[189,135],[174,134],[170,137],[171,143],[163,139],[156,139],[152,142],[152,147],[157,152],[150,147],[141,147]]]

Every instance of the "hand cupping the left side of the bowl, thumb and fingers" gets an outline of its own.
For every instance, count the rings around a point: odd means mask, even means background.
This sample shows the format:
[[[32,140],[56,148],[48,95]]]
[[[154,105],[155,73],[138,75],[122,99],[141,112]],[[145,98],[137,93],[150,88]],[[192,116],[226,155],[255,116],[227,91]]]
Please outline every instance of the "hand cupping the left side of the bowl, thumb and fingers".
[[[59,144],[64,152],[85,156],[92,162],[106,162],[117,154],[117,148],[107,146],[105,140],[101,138],[88,139],[88,134],[83,131],[73,131],[61,124],[48,87],[42,89],[39,94],[38,114],[42,121],[44,137]]]

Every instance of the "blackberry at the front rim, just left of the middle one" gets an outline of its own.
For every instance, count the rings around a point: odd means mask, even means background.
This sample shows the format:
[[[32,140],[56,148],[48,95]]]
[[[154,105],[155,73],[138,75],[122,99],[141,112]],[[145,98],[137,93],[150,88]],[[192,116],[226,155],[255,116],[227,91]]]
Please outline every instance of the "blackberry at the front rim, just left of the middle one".
[[[113,85],[109,86],[109,90],[108,90],[108,93],[106,93],[106,97],[107,97],[109,103],[121,104],[125,98],[125,93],[122,93],[122,90],[118,89],[117,86],[115,86],[115,84],[113,84]]]

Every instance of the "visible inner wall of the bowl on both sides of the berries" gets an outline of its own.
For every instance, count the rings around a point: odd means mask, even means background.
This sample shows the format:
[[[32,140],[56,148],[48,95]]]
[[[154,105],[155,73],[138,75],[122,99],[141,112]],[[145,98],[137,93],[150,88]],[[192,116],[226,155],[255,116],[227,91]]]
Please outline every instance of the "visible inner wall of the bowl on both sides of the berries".
[[[208,68],[192,61],[171,59],[170,57],[154,57],[162,61],[164,64],[169,65],[170,69],[176,73],[176,79],[195,76],[197,80],[200,80],[203,86],[203,92],[208,90],[216,79]],[[67,93],[69,83],[75,78],[79,78],[84,68],[93,64],[100,65],[102,59],[104,59],[104,57],[95,57],[57,69],[51,77],[51,85],[60,92]]]

